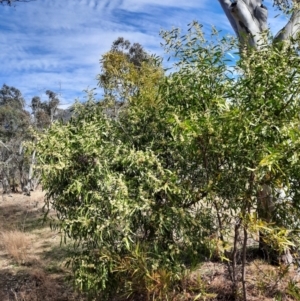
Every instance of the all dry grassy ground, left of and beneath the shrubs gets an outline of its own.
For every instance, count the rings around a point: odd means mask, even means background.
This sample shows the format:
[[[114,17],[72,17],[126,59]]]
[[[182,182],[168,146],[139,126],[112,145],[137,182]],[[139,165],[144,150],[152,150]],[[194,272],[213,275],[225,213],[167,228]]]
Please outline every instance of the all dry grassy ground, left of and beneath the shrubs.
[[[0,301],[87,300],[66,280],[71,276],[64,265],[68,247],[60,244],[60,235],[50,229],[50,221],[43,222],[43,206],[41,190],[30,197],[2,195],[0,190]],[[55,218],[55,213],[50,216]],[[211,293],[198,300],[232,300],[224,264],[208,261],[188,278],[192,285]],[[300,300],[300,271],[296,268],[286,272],[284,267],[250,258],[247,279],[249,301]],[[188,295],[174,301],[194,299]]]

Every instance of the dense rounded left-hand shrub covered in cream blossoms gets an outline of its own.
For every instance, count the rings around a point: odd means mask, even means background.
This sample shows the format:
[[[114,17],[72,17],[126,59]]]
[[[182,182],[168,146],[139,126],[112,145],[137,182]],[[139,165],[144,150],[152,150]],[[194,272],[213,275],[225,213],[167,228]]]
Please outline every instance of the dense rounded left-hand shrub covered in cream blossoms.
[[[161,269],[179,273],[178,258],[205,251],[201,237],[210,231],[203,228],[207,212],[186,206],[190,192],[178,186],[151,141],[137,149],[121,121],[103,109],[83,106],[69,124],[53,125],[37,147],[49,203],[66,236],[80,245],[73,260],[77,284],[106,295],[117,284],[128,293],[134,281],[128,273],[145,283]],[[124,261],[132,264],[125,269]]]

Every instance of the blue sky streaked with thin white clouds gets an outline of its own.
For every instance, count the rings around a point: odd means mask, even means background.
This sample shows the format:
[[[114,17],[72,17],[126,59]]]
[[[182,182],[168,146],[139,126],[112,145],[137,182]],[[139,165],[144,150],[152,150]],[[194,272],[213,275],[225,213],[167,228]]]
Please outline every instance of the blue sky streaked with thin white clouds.
[[[264,4],[276,33],[286,20],[272,18],[278,11],[271,0]],[[184,29],[193,20],[233,34],[217,0],[35,0],[0,6],[0,86],[18,88],[27,104],[52,90],[66,107],[97,87],[99,60],[115,39],[163,55],[159,31]]]

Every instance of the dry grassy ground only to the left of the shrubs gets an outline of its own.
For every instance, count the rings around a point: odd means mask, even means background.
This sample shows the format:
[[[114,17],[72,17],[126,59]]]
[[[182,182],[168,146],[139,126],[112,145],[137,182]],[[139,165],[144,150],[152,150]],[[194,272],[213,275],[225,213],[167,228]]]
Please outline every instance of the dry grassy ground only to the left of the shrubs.
[[[0,301],[85,300],[66,281],[67,247],[43,222],[43,205],[41,190],[31,196],[0,191]]]

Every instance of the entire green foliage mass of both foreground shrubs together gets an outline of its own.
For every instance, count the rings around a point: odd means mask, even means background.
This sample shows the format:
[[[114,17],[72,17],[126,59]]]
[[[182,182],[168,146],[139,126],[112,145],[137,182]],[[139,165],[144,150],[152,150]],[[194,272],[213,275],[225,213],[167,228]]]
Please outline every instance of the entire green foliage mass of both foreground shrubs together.
[[[209,252],[234,269],[240,230],[244,252],[257,231],[280,251],[298,244],[298,54],[265,46],[230,66],[237,45],[215,30],[207,40],[194,22],[162,35],[175,71],[155,93],[127,93],[135,66],[109,54],[126,65],[112,87],[126,108],[111,118],[90,99],[38,139],[48,205],[77,246],[76,284],[102,298],[166,300]],[[142,87],[156,87],[148,78]]]

